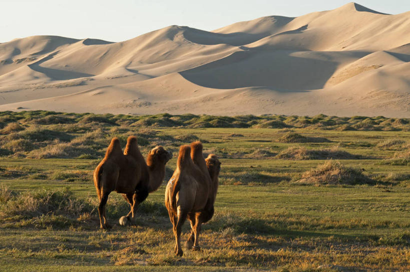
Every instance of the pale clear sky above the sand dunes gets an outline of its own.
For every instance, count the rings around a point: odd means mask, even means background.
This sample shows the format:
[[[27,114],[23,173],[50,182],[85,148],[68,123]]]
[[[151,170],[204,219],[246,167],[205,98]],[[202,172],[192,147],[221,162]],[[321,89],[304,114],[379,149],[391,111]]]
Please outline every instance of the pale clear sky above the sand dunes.
[[[0,42],[32,35],[122,41],[172,24],[214,30],[268,15],[300,16],[349,0],[1,0]],[[409,0],[356,0],[390,14]]]

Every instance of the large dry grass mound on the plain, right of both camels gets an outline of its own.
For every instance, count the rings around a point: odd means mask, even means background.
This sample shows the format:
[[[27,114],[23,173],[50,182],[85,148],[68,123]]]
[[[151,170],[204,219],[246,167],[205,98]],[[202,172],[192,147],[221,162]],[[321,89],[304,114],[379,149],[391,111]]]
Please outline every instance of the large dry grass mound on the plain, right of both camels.
[[[302,178],[295,181],[299,184],[364,184],[373,183],[361,169],[346,167],[338,160],[328,160],[316,168],[305,171]]]

